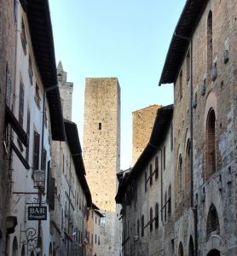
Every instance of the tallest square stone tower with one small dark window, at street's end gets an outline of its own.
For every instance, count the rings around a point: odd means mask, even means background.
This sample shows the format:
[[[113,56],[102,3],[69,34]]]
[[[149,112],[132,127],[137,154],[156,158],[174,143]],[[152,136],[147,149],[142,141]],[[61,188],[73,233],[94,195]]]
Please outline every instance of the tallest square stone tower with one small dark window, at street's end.
[[[92,200],[105,213],[101,255],[119,255],[116,173],[120,170],[120,87],[116,78],[86,79],[84,166]]]

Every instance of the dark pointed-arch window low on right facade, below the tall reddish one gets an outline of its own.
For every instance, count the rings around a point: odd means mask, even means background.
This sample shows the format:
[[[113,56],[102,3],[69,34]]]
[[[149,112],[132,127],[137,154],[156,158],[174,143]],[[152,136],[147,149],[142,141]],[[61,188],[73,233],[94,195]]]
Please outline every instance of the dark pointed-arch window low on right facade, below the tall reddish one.
[[[217,209],[214,205],[211,205],[206,222],[206,238],[211,237],[211,233],[215,232],[216,234],[220,234],[220,226],[219,226],[219,218],[217,214]]]

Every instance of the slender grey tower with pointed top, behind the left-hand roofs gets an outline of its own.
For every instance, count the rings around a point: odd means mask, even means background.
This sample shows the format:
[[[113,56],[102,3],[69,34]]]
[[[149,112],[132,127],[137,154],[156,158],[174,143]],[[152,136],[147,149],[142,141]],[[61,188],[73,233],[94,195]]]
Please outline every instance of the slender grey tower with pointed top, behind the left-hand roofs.
[[[63,70],[61,61],[59,61],[57,67],[58,83],[61,95],[61,106],[63,111],[63,117],[68,120],[72,120],[72,91],[73,83],[66,81],[66,72]]]

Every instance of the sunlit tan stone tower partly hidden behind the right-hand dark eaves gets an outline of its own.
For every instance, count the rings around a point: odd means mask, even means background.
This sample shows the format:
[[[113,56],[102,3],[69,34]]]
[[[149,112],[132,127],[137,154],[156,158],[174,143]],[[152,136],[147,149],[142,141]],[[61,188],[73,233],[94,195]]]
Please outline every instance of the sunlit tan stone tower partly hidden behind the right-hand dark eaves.
[[[153,130],[154,120],[156,118],[159,105],[151,105],[147,108],[136,110],[132,113],[132,165],[142,154],[143,149],[147,146]]]

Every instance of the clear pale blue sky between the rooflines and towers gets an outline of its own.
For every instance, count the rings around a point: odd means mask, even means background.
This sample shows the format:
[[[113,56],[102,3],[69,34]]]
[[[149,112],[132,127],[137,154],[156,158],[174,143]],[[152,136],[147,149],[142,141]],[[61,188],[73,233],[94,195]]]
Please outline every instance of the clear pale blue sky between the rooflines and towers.
[[[173,102],[158,86],[185,0],[49,0],[56,61],[74,83],[72,120],[83,143],[84,79],[117,77],[121,87],[121,169],[131,165],[132,112]]]

